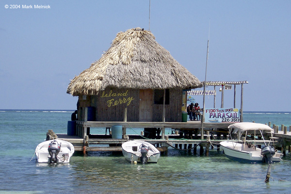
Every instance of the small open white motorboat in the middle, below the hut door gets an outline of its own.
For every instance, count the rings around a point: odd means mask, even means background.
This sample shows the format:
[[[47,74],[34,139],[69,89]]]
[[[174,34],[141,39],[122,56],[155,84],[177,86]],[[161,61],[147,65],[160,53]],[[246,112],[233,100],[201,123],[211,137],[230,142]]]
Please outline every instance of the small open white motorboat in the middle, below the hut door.
[[[132,140],[121,146],[123,155],[130,162],[157,163],[160,158],[160,151],[148,142]]]

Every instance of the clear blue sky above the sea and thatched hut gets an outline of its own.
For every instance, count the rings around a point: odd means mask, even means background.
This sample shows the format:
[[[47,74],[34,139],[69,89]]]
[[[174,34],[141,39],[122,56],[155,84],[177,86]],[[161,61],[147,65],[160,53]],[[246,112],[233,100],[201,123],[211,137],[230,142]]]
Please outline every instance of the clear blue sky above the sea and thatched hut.
[[[1,0],[0,109],[76,109],[70,80],[118,32],[140,27],[200,81],[209,40],[207,81],[248,81],[244,111],[290,112],[290,8],[290,0]],[[233,108],[233,90],[224,92],[224,108]]]

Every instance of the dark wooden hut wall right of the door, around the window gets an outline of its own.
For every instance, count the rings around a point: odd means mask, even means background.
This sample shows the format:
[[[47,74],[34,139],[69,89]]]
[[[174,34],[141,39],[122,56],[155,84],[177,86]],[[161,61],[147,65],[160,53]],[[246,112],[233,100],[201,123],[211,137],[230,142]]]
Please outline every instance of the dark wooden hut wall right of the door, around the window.
[[[169,89],[169,104],[165,104],[165,121],[181,122],[182,121],[182,90]],[[162,104],[154,104],[153,122],[162,121]]]

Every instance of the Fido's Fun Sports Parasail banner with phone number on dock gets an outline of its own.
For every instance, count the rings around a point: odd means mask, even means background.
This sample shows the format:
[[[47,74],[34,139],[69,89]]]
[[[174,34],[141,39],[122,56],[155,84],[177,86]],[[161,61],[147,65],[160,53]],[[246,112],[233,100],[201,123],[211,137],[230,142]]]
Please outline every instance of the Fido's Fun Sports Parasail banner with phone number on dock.
[[[205,109],[205,123],[240,122],[240,109]]]

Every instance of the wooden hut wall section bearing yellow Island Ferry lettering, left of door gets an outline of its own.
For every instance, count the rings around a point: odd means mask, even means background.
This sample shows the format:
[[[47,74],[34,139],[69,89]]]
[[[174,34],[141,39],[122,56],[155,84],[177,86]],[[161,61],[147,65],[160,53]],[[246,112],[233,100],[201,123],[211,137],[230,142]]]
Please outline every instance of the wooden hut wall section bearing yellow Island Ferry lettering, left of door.
[[[91,97],[96,108],[96,121],[123,121],[127,108],[127,121],[139,119],[139,90],[106,88]]]

